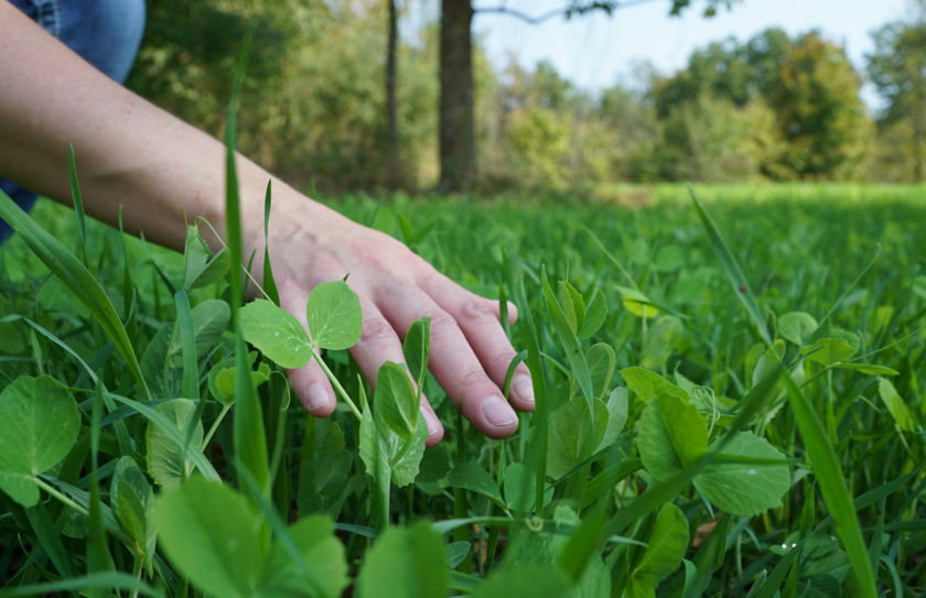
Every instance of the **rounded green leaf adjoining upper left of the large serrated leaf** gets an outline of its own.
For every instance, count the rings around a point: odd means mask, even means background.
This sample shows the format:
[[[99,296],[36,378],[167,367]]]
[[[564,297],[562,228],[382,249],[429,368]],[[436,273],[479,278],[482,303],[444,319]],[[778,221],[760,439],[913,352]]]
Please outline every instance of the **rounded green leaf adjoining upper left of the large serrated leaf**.
[[[636,424],[644,467],[656,480],[680,472],[708,448],[708,426],[698,409],[675,394],[646,403]]]

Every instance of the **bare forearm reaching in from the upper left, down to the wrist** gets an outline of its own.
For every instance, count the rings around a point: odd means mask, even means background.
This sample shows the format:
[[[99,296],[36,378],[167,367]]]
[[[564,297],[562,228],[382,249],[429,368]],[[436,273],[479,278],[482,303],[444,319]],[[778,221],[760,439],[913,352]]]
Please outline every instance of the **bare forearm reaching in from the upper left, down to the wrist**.
[[[181,249],[184,222],[204,217],[224,235],[224,148],[85,63],[7,2],[0,2],[0,175],[69,203],[67,152],[74,144],[87,211]],[[239,156],[249,249],[262,241],[270,175]],[[273,182],[274,222],[340,217]],[[324,226],[311,227],[320,232]]]

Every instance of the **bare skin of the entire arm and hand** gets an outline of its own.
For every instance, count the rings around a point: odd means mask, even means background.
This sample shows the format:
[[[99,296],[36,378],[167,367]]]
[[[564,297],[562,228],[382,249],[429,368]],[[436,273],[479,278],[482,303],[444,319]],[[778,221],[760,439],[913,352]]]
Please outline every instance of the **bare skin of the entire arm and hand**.
[[[115,224],[121,206],[127,230],[175,250],[183,248],[186,222],[197,217],[224,235],[222,143],[111,81],[1,1],[0,140],[0,176],[45,197],[71,204],[73,143],[88,214]],[[534,391],[524,365],[508,400],[499,390],[516,351],[496,301],[462,289],[396,239],[310,199],[241,155],[238,176],[244,254],[260,255],[269,243],[283,308],[304,326],[309,291],[349,274],[364,313],[363,335],[351,354],[370,382],[385,361],[402,361],[405,330],[429,316],[429,367],[438,382],[487,436],[514,434],[512,407],[531,411]],[[273,207],[265,239],[268,181]],[[220,246],[217,238],[207,240]],[[514,322],[514,305],[508,313]],[[314,361],[289,373],[309,412],[334,411],[331,383]],[[437,444],[443,428],[427,399],[421,410],[428,444]]]

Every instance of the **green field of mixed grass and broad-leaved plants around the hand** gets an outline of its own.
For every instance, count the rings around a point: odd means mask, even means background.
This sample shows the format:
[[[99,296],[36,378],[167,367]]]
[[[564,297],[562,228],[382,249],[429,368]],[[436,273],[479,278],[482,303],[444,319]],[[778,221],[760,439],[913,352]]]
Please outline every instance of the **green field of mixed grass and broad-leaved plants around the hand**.
[[[517,305],[537,411],[505,441],[426,320],[374,389],[343,282],[309,337],[192,231],[41,205],[0,249],[0,597],[923,595],[926,188],[697,191],[333,204]],[[317,357],[327,420],[284,376]]]

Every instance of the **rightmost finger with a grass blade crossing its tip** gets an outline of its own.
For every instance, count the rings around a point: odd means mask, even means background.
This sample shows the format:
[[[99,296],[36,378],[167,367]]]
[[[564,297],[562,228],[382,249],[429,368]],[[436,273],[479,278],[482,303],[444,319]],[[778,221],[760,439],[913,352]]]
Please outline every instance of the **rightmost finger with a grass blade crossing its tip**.
[[[470,293],[440,274],[429,280],[426,291],[453,317],[485,371],[503,387],[517,354],[498,322],[498,302]],[[508,320],[514,323],[516,318],[517,308],[509,303]],[[534,411],[534,384],[524,363],[515,368],[509,399],[516,409]]]

